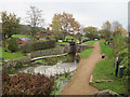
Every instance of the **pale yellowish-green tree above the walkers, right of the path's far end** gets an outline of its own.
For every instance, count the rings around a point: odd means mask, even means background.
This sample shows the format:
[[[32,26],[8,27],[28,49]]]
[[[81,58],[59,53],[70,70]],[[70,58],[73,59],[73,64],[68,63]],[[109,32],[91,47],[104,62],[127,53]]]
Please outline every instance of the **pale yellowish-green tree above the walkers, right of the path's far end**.
[[[103,24],[102,30],[106,40],[109,40],[112,37],[112,24],[107,20]]]

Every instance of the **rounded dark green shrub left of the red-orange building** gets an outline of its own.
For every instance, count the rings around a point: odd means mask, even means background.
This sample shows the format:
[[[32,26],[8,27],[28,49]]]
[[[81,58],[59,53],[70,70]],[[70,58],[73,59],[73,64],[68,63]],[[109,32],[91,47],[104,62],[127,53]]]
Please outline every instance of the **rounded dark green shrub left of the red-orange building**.
[[[10,39],[8,48],[11,52],[16,52],[18,50],[18,41],[17,41],[17,39]]]

